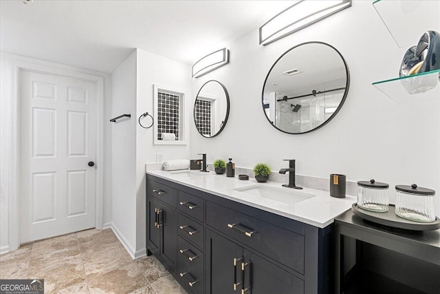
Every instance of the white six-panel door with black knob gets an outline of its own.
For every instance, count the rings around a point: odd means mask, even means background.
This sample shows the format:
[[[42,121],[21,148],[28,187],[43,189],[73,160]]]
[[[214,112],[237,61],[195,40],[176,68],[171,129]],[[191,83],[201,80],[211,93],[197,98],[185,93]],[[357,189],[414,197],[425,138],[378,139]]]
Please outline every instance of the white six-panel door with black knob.
[[[96,84],[20,72],[20,242],[95,227]]]

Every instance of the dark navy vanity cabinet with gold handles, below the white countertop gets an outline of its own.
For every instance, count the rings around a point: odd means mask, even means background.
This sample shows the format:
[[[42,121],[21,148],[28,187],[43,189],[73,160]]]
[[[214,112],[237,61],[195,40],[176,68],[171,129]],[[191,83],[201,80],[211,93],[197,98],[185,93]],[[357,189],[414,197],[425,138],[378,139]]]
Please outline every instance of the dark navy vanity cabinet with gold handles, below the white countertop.
[[[147,174],[147,249],[188,293],[330,293],[320,229]]]

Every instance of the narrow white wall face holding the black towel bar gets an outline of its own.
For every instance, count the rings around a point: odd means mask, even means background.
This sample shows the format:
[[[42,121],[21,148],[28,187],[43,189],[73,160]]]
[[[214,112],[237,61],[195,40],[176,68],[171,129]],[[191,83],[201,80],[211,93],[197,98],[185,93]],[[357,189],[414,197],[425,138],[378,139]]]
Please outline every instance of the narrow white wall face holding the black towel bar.
[[[136,244],[136,62],[133,51],[111,74],[111,116],[131,114],[131,118],[106,121],[111,124],[111,222],[132,254]]]

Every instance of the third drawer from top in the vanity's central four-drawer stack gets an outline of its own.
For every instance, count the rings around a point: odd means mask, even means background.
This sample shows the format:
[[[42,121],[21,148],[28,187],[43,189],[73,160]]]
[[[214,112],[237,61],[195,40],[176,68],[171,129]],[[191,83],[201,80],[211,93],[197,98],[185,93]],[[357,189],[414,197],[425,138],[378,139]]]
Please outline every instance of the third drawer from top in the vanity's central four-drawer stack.
[[[190,271],[195,277],[203,278],[203,253],[180,236],[177,244],[177,254],[179,255],[177,270],[181,271],[181,266],[184,266],[186,271]]]

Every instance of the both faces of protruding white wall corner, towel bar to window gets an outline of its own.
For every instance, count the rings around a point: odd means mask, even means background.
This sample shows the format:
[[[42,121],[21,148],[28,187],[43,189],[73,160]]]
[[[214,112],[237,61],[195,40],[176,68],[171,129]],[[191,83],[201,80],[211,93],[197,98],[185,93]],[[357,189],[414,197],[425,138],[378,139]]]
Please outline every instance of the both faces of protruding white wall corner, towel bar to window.
[[[165,160],[189,156],[188,145],[153,145],[153,127],[140,127],[137,118],[144,112],[154,114],[153,84],[186,90],[185,107],[190,111],[190,66],[137,49],[113,72],[112,82],[112,115],[131,114],[131,118],[111,124],[109,226],[137,258],[146,252],[145,163],[156,162],[156,153],[164,154]],[[188,127],[188,116],[185,120]]]

